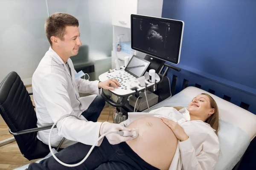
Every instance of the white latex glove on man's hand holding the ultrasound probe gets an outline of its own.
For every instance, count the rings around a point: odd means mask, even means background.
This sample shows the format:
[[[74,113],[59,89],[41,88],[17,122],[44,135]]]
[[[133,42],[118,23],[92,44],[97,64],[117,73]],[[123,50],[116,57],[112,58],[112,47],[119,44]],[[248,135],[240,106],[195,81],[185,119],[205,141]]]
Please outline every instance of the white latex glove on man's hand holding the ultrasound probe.
[[[131,129],[123,127],[119,124],[103,122],[100,128],[100,135],[103,135],[104,133],[107,133],[107,132],[120,131],[120,130],[127,130],[131,132]],[[106,138],[108,139],[108,142],[110,144],[119,144],[121,142],[129,141],[133,139],[130,136],[120,136],[119,134],[116,134],[116,133],[110,133],[106,136]]]

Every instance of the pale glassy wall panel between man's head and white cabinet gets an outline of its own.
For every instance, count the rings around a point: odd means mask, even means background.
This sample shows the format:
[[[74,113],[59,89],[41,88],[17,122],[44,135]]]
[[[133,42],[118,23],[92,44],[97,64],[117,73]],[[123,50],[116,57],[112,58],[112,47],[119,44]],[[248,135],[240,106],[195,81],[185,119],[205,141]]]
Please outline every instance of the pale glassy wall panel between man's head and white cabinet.
[[[49,14],[65,12],[79,20],[81,42],[89,45],[89,58],[111,56],[111,0],[48,0]]]

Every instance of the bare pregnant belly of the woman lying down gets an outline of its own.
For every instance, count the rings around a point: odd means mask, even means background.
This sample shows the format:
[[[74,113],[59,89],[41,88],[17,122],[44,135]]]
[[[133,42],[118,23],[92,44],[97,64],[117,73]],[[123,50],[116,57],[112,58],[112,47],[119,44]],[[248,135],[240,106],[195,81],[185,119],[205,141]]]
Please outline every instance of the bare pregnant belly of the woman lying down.
[[[145,117],[128,125],[138,137],[126,143],[148,164],[168,170],[177,148],[177,138],[160,118]]]

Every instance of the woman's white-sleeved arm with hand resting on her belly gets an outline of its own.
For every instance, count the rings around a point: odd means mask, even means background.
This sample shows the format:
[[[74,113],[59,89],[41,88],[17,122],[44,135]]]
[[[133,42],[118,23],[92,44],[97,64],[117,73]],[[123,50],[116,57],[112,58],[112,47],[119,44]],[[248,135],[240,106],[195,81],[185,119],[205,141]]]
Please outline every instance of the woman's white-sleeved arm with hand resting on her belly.
[[[189,136],[177,122],[166,118],[162,118],[162,121],[172,129],[177,139],[179,139],[178,144],[184,170],[214,169],[219,155],[219,142],[218,139],[216,139],[215,133],[207,134],[204,142],[198,146],[201,151],[196,154]],[[198,138],[200,138],[200,136],[198,136]]]

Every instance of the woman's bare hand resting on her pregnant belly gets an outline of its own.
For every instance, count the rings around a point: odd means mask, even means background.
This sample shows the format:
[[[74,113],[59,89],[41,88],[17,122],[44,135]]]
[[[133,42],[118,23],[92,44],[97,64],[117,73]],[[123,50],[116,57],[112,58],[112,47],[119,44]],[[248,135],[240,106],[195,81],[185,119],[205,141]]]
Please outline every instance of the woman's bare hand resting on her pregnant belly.
[[[176,138],[179,139],[181,142],[186,141],[189,139],[189,136],[185,133],[183,128],[171,119],[161,118],[161,120],[172,129],[173,133],[175,134]]]

